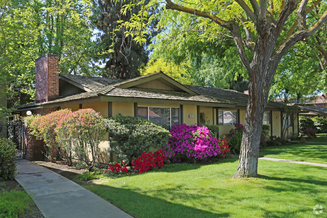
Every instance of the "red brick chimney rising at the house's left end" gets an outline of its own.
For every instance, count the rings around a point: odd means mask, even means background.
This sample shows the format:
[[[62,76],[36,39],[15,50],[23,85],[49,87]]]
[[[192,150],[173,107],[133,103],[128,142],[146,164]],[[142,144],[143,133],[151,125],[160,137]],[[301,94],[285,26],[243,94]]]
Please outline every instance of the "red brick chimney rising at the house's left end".
[[[47,102],[59,96],[58,55],[46,54],[35,60],[35,100]]]

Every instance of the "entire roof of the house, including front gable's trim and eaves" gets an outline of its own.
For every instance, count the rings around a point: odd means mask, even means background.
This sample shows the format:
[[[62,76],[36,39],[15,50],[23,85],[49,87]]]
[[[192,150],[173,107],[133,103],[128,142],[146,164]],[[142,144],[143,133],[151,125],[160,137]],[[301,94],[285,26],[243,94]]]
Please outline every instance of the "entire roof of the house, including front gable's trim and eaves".
[[[21,105],[19,108],[26,108],[31,106],[54,107],[68,105],[69,103],[78,104],[78,101],[86,102],[88,99],[96,98],[97,101],[127,101],[127,102],[145,102],[153,100],[156,103],[174,103],[187,104],[187,102],[197,102],[188,104],[208,105],[215,107],[229,107],[233,108],[246,107],[248,95],[239,93],[234,90],[225,90],[209,87],[198,87],[182,85],[163,72],[156,72],[155,74],[146,75],[130,80],[118,80],[100,77],[87,77],[78,75],[61,74],[60,79],[77,86],[85,93],[73,94],[70,96],[60,97],[56,100],[34,103],[28,105]],[[147,83],[154,80],[163,80],[168,85],[171,84],[173,90],[163,89],[146,89],[137,87],[140,84]],[[283,106],[280,103],[269,101],[266,108],[281,109]]]

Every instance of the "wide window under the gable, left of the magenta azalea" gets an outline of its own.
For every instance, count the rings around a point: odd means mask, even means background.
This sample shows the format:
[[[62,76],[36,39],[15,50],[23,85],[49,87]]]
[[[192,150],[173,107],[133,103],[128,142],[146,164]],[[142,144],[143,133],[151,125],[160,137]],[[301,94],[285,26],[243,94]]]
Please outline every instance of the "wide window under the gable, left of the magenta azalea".
[[[180,123],[180,109],[174,107],[138,107],[138,117],[152,120],[166,129]]]

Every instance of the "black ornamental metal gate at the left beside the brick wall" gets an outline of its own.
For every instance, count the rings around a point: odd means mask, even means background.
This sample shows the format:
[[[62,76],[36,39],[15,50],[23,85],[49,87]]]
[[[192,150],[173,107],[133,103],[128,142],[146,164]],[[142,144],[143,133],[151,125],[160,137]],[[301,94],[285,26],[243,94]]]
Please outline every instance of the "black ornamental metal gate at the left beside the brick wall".
[[[25,125],[21,121],[0,122],[0,138],[16,144],[17,159],[25,159]]]

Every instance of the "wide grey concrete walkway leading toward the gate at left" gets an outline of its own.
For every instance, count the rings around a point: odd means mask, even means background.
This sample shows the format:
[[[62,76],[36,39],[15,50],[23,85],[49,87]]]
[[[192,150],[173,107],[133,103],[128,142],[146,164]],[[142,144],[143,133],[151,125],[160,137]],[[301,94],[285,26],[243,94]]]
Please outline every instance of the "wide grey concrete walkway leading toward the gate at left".
[[[47,218],[133,218],[98,195],[53,171],[18,160],[16,181]]]

